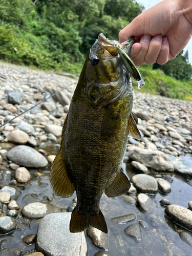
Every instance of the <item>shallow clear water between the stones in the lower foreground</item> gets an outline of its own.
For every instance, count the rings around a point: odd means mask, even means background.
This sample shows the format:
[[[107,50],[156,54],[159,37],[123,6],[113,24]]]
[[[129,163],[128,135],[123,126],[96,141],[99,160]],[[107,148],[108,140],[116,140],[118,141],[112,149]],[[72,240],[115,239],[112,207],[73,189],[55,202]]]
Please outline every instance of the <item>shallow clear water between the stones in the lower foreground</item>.
[[[10,149],[8,145],[1,145],[2,148]],[[36,148],[38,149],[38,148]],[[44,148],[48,154],[56,154],[56,151],[51,147]],[[191,156],[182,156],[183,160],[192,163]],[[51,164],[50,164],[51,166]],[[68,206],[75,198],[75,194],[68,199],[56,199],[53,197],[52,190],[49,184],[50,166],[44,170],[29,169],[33,174],[33,178],[25,187],[20,187],[22,194],[16,200],[19,207],[22,209],[26,204],[31,202],[49,202],[55,207],[55,212],[66,211]],[[126,174],[132,181],[133,175],[137,174],[130,163],[123,163]],[[7,168],[6,168],[7,169]],[[14,171],[12,171],[14,175]],[[160,177],[159,173],[152,173],[153,176]],[[159,201],[163,198],[168,199],[173,204],[178,204],[188,207],[188,202],[192,200],[192,182],[191,179],[182,177],[177,174],[163,174],[161,176],[170,182],[172,192],[163,195],[158,191],[156,195],[150,195],[153,199],[153,210],[150,214],[143,213],[138,205],[127,204],[120,198],[108,198],[105,195],[101,198],[100,208],[108,225],[108,243],[111,256],[122,255],[155,255],[155,256],[186,256],[192,255],[192,248],[180,239],[179,233],[187,231],[185,228],[176,225],[172,220],[168,219],[164,213],[164,207]],[[191,184],[191,185],[190,185]],[[3,184],[2,184],[3,185]],[[132,195],[137,199],[137,194]],[[134,213],[136,220],[127,224],[118,225],[110,221],[111,218]],[[26,245],[22,238],[27,234],[36,233],[39,220],[28,220],[20,215],[16,218],[17,223],[21,223],[20,229],[17,227],[14,231],[6,235],[0,236],[0,248],[17,247],[23,251],[22,255],[27,252],[35,251],[35,244]],[[139,220],[147,223],[148,228],[142,229],[142,241],[137,243],[131,237],[124,234],[124,229],[131,224],[138,224]],[[19,226],[19,225],[18,225]],[[85,232],[86,234],[86,232]],[[7,240],[7,243],[5,241]],[[59,238],[58,238],[59,239]],[[88,255],[94,256],[99,250],[87,238]]]

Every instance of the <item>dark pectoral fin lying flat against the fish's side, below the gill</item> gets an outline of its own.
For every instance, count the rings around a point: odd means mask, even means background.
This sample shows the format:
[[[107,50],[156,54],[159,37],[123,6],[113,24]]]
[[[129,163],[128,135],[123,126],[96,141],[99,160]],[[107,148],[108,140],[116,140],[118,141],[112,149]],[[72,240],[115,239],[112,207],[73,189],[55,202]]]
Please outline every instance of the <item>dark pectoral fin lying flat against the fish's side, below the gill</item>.
[[[120,113],[117,111],[114,111],[110,105],[101,123],[101,129],[100,129],[101,137],[116,135],[119,132],[120,126],[121,126]]]

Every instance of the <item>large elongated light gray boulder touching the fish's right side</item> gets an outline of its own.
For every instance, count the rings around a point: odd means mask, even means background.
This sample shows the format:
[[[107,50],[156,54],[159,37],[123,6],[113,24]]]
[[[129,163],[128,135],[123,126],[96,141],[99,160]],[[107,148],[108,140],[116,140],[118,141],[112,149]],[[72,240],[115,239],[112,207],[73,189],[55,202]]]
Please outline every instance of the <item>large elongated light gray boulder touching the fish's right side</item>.
[[[131,146],[129,147],[128,156],[130,159],[140,162],[157,172],[174,172],[171,160],[161,151],[143,150],[137,146]]]

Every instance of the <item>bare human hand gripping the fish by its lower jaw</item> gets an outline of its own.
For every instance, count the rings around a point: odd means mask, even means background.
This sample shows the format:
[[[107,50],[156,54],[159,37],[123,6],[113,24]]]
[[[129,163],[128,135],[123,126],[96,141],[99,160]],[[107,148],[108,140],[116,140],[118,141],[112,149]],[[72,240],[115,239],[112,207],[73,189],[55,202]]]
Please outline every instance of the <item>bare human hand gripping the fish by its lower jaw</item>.
[[[119,33],[123,42],[134,36],[130,57],[135,65],[164,64],[187,45],[192,34],[192,1],[164,0],[137,16]]]

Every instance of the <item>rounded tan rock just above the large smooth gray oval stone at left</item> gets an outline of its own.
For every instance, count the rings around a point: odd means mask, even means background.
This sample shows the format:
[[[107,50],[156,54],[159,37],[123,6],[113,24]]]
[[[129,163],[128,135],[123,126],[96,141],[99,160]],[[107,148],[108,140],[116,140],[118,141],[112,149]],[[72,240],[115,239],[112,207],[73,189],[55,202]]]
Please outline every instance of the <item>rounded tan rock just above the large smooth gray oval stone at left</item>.
[[[12,143],[26,144],[29,140],[29,135],[17,129],[9,133],[7,136],[7,139],[9,142],[12,142]]]

